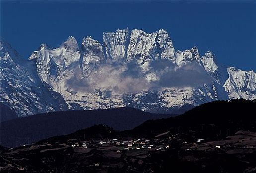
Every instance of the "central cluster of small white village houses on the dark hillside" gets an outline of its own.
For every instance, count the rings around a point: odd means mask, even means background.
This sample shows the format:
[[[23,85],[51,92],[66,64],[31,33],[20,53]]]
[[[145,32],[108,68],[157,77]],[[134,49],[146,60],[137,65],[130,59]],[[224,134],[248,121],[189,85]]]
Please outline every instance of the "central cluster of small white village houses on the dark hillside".
[[[172,139],[175,135],[165,138],[156,139],[105,139],[105,140],[85,140],[78,141],[69,139],[66,145],[70,145],[75,153],[82,155],[90,155],[100,153],[101,158],[120,159],[129,157],[136,160],[139,164],[143,163],[143,159],[150,156],[152,153],[165,152],[170,148]],[[88,160],[89,161],[89,160]],[[92,167],[106,167],[107,164],[101,160],[90,160],[86,163]],[[118,163],[120,165],[121,162]]]

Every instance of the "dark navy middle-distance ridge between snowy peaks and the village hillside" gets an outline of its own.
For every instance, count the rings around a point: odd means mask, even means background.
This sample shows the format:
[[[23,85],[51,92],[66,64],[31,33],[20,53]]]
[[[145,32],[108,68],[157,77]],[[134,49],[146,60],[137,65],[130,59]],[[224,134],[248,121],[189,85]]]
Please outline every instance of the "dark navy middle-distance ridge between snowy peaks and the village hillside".
[[[97,124],[115,130],[130,130],[146,120],[167,118],[172,115],[153,114],[130,107],[61,111],[38,114],[1,122],[0,145],[17,147],[57,135],[70,134]]]

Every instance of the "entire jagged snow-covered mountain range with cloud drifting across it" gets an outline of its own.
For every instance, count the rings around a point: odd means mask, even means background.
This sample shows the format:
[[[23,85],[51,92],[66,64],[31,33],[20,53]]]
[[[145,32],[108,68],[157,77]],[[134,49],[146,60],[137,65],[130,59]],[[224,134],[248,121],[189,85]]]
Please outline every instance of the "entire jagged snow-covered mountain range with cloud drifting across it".
[[[1,40],[0,98],[19,116],[123,106],[172,113],[214,100],[255,99],[256,72],[226,68],[197,47],[176,51],[163,29],[104,32],[102,44],[70,36],[58,48],[42,44],[27,61]]]

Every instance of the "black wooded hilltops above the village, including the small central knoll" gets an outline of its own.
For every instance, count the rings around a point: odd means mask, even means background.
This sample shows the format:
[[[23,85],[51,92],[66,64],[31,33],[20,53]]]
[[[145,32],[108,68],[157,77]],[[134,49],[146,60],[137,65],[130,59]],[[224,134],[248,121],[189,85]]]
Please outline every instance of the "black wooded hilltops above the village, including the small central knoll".
[[[132,130],[117,132],[112,129],[111,134],[100,136],[102,138],[104,136],[105,138],[155,138],[156,135],[169,131],[169,135],[179,134],[180,138],[191,142],[198,138],[218,140],[234,135],[239,130],[256,131],[255,108],[256,100],[215,101],[205,103],[176,117],[147,120]],[[94,139],[101,132],[106,134],[106,131],[110,129],[94,126],[61,138],[53,137],[49,141],[82,139],[84,136],[87,140]]]

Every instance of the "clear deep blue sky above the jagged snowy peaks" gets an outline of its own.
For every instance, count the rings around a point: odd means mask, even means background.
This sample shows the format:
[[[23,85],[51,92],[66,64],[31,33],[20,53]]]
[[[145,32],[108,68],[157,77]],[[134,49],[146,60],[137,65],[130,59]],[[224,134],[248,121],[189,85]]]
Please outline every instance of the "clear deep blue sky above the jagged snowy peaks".
[[[72,35],[102,42],[117,28],[166,29],[176,50],[211,50],[218,62],[256,70],[256,1],[0,1],[0,35],[24,58]]]

